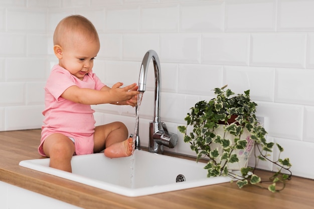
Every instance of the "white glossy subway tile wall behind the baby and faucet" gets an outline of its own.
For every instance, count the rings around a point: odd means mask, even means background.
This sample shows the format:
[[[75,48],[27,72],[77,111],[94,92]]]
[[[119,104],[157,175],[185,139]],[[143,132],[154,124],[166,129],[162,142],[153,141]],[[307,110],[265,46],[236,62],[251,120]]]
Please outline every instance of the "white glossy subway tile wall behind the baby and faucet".
[[[64,17],[81,14],[99,33],[94,72],[108,86],[137,82],[145,52],[159,54],[162,120],[179,135],[167,150],[194,155],[177,126],[196,102],[214,96],[211,89],[228,84],[236,93],[250,89],[267,140],[285,148],[294,174],[314,178],[314,164],[304,160],[314,157],[313,10],[309,0],[0,1],[0,131],[41,127],[43,87],[57,63],[53,31]],[[139,110],[142,146],[154,107],[149,68]],[[93,108],[97,125],[119,120],[133,132],[134,108]]]

